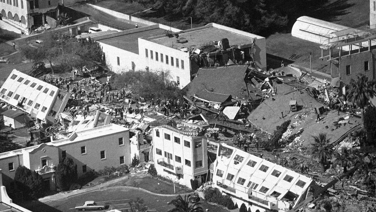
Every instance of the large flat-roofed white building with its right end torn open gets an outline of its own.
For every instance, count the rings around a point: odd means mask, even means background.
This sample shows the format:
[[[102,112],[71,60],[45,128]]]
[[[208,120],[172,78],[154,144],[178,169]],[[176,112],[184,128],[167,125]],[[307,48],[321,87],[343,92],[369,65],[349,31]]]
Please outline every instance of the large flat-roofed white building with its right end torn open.
[[[199,64],[214,66],[225,65],[230,59],[253,60],[256,68],[266,70],[265,37],[215,23],[184,31],[158,24],[95,40],[103,47],[106,63],[113,71],[161,71],[181,88],[191,81]],[[215,46],[221,51],[213,51]],[[194,54],[200,56],[192,57]]]

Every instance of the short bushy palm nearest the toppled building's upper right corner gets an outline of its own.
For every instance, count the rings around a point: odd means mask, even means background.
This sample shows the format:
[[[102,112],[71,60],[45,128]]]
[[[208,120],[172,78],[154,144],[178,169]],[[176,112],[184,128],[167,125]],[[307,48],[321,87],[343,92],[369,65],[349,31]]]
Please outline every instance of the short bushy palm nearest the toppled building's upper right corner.
[[[318,136],[312,136],[314,143],[311,143],[311,148],[309,149],[312,154],[312,158],[320,161],[321,171],[325,172],[325,165],[328,160],[333,157],[332,146],[329,145],[329,140],[326,138],[325,133],[320,133]]]

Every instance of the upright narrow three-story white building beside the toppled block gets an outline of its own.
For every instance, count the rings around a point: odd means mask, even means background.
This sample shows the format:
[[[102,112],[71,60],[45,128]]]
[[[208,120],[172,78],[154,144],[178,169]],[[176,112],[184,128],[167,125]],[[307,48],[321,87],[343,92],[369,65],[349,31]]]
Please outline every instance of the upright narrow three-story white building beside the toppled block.
[[[153,127],[153,158],[158,175],[199,187],[208,174],[208,141],[197,131],[167,124]]]

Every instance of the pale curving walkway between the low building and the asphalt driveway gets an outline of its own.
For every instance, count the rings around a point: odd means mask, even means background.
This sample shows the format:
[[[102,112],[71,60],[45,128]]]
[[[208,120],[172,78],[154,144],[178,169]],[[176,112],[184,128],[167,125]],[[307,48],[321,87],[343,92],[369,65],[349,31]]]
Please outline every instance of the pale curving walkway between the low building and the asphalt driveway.
[[[146,190],[146,189],[136,188],[136,187],[131,187],[131,186],[111,186],[115,183],[118,183],[122,180],[125,180],[126,178],[128,178],[128,175],[114,179],[114,180],[111,180],[111,181],[107,181],[107,182],[102,183],[102,184],[98,184],[98,185],[93,186],[93,187],[89,187],[89,188],[86,188],[86,189],[79,189],[79,190],[68,191],[68,192],[60,192],[60,193],[55,194],[55,195],[42,197],[42,198],[39,198],[38,201],[40,201],[41,203],[48,203],[48,202],[51,202],[51,201],[57,201],[57,200],[61,200],[61,199],[64,199],[64,198],[84,194],[84,193],[91,192],[91,191],[94,191],[94,190],[107,190],[107,189],[115,189],[115,188],[141,190],[141,191],[147,192],[149,194],[153,194],[153,195],[157,195],[157,196],[163,196],[163,197],[176,197],[176,195],[179,195],[179,194],[157,194],[157,193],[153,193],[153,192]],[[183,195],[190,194],[190,193],[191,192],[180,194],[180,195],[183,196]]]

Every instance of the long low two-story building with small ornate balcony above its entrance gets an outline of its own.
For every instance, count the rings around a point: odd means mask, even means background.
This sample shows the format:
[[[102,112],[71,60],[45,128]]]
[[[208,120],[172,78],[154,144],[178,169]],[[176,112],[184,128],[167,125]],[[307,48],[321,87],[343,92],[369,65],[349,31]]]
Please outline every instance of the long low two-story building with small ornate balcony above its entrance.
[[[2,183],[11,192],[17,167],[25,166],[42,176],[46,189],[55,190],[56,167],[65,157],[77,164],[79,177],[88,171],[129,165],[132,157],[129,129],[108,124],[76,131],[62,140],[1,153]]]

